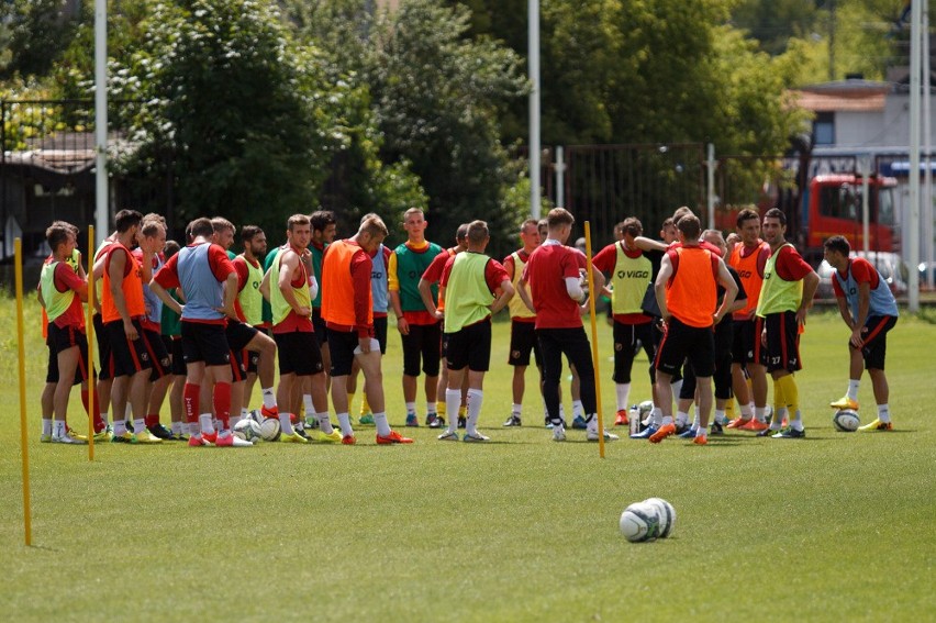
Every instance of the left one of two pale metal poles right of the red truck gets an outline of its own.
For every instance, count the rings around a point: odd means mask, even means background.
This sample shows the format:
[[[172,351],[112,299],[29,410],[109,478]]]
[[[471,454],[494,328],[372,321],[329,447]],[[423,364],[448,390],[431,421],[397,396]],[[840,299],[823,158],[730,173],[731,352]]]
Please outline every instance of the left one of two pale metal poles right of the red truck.
[[[920,311],[920,23],[923,18],[922,2],[911,5],[910,25],[910,297],[907,309]]]

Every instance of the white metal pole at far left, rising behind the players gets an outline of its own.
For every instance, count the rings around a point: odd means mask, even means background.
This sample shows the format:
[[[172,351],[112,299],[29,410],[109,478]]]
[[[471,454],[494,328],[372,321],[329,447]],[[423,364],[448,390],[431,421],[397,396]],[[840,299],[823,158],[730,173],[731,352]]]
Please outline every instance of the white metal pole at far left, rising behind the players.
[[[108,1],[94,0],[94,223],[98,242],[108,234]],[[93,253],[93,249],[88,249]]]

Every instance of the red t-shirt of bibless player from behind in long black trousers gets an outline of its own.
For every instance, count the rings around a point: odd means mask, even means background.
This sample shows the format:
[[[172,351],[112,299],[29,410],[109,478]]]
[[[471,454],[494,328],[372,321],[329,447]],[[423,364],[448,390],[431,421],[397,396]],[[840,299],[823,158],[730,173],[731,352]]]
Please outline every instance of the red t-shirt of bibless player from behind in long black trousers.
[[[530,254],[523,279],[530,283],[536,329],[576,329],[582,325],[579,303],[569,298],[567,277],[579,277],[587,266],[582,252],[560,244],[543,244]]]

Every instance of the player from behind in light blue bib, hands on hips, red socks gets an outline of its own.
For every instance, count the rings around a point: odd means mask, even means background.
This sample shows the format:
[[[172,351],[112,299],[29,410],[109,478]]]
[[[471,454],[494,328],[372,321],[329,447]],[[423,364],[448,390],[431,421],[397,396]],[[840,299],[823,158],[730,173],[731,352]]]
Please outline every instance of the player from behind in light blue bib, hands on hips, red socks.
[[[186,359],[183,400],[189,427],[189,446],[253,446],[231,432],[231,349],[225,335],[226,320],[235,318],[237,274],[224,249],[211,243],[214,227],[209,219],[196,219],[188,231],[192,243],[180,249],[153,278],[149,287],[164,304],[181,315],[182,351]],[[185,307],[172,299],[167,288],[181,288]],[[213,381],[212,407],[220,431],[209,413],[201,416],[201,383]]]

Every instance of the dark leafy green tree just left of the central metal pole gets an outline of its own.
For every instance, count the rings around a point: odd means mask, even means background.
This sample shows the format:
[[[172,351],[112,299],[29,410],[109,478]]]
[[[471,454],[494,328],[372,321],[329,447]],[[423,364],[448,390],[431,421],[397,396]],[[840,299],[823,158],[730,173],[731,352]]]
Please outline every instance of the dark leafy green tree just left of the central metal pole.
[[[388,162],[410,158],[430,198],[432,236],[484,219],[503,248],[527,205],[508,201],[521,168],[500,143],[504,102],[525,92],[519,58],[489,40],[466,38],[469,13],[413,0],[377,24],[369,81]],[[504,243],[504,241],[511,241]]]

